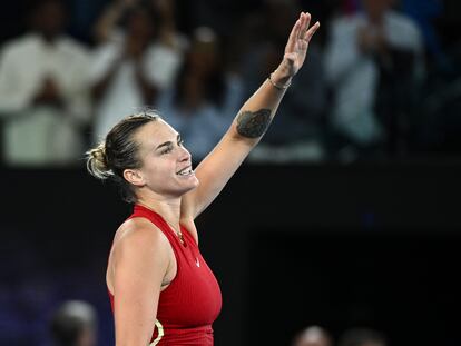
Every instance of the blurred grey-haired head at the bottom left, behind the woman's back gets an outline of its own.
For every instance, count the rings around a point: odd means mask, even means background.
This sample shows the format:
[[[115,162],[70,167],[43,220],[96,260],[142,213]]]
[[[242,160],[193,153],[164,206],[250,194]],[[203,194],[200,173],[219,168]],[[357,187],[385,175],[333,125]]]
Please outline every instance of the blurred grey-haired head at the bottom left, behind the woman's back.
[[[55,346],[96,346],[96,309],[86,301],[65,301],[51,317],[50,332]]]

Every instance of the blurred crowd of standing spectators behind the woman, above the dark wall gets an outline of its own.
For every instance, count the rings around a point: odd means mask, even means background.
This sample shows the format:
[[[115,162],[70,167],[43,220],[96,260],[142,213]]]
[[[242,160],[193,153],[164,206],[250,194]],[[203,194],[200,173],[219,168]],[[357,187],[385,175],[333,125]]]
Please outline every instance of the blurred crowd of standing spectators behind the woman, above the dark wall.
[[[41,0],[1,42],[1,162],[79,166],[146,108],[200,160],[277,67],[301,10],[322,29],[251,161],[461,149],[461,40],[441,34],[441,0]]]

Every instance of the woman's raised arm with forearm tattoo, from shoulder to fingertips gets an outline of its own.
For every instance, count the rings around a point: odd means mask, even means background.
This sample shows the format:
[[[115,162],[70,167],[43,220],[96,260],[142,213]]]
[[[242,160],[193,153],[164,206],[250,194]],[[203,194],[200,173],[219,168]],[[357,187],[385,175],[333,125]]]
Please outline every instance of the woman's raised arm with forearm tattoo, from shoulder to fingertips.
[[[304,63],[311,38],[320,27],[318,22],[312,27],[310,23],[311,14],[302,12],[277,69],[243,105],[222,140],[196,168],[200,184],[184,197],[182,218],[194,219],[216,198],[267,130],[292,77]]]

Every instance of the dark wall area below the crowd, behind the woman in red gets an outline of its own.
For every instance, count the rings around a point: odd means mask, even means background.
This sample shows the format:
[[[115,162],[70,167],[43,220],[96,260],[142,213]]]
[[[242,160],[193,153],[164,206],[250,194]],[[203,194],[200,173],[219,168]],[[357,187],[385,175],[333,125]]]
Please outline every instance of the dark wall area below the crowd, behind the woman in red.
[[[216,345],[290,345],[310,324],[459,345],[460,172],[454,160],[242,167],[197,220],[224,296]],[[2,181],[1,344],[46,339],[52,308],[78,298],[112,345],[104,277],[129,206],[84,169]]]

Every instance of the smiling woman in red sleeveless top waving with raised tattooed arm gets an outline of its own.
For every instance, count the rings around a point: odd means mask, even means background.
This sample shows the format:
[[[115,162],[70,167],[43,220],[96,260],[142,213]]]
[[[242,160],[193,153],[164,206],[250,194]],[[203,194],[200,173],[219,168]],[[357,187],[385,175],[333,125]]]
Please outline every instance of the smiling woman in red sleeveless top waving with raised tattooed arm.
[[[320,27],[310,21],[300,14],[281,65],[195,171],[179,134],[155,115],[121,120],[88,151],[89,171],[119,182],[135,204],[115,235],[106,275],[117,345],[213,345],[220,291],[194,219],[266,131]]]

